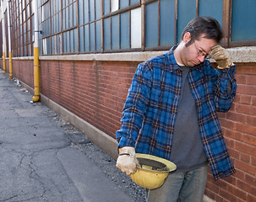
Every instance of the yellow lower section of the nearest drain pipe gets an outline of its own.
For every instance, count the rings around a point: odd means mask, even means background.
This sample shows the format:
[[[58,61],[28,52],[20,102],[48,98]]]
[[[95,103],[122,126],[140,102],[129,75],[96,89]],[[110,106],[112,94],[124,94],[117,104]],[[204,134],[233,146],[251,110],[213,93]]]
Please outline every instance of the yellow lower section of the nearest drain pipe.
[[[39,88],[39,47],[34,47],[34,87],[35,93],[33,96],[33,102],[40,100],[40,88]]]

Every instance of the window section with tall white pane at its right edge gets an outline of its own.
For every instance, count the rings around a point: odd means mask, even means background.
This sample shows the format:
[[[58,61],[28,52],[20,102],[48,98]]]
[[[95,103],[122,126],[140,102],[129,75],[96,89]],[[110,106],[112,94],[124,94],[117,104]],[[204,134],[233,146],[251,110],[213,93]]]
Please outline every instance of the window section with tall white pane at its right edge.
[[[103,13],[104,51],[141,48],[140,1],[105,0]]]

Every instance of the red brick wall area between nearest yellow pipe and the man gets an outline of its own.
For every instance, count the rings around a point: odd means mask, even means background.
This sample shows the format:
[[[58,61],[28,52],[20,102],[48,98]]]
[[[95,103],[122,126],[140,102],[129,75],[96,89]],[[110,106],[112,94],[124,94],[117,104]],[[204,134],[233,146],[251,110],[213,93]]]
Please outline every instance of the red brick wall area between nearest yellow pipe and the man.
[[[41,61],[41,93],[115,137],[138,63]]]

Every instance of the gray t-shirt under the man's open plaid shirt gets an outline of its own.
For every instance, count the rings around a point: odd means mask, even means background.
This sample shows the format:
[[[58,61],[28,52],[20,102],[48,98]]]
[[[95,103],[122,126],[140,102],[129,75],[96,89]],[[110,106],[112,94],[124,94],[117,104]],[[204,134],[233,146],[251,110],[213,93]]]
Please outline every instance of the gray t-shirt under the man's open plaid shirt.
[[[188,172],[208,163],[200,139],[198,113],[195,100],[188,86],[189,68],[182,69],[182,94],[174,125],[171,161],[177,172]]]

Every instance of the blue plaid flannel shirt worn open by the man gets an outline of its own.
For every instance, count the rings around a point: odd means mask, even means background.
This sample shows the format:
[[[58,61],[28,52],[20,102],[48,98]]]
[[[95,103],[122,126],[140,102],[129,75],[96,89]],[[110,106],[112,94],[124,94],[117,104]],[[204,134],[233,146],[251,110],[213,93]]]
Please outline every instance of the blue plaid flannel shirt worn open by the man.
[[[134,146],[136,152],[170,160],[182,88],[182,71],[173,50],[139,64],[123,107],[122,127],[117,130],[119,147]],[[215,180],[235,173],[216,114],[231,108],[237,89],[235,70],[236,66],[216,70],[204,60],[188,72],[200,136]],[[231,92],[226,88],[228,81]]]

